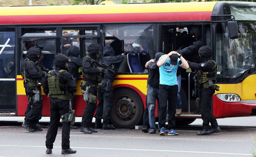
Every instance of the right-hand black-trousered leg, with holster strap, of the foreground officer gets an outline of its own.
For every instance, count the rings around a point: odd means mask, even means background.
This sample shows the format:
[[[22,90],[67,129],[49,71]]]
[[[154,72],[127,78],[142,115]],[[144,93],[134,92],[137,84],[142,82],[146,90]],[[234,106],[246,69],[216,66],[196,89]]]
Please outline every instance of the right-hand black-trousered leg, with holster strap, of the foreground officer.
[[[69,113],[69,101],[57,99],[57,104],[59,108],[59,116]],[[62,149],[69,149],[69,138],[70,138],[70,122],[62,123]]]

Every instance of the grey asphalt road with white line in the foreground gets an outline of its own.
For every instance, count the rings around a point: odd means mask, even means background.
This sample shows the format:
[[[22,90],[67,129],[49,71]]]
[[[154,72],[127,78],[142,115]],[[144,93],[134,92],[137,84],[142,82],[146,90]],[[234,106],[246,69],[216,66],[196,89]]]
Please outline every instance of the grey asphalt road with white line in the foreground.
[[[199,122],[198,122],[199,123]],[[80,128],[80,126],[79,126]],[[198,136],[198,124],[176,127],[177,136],[142,133],[136,129],[102,130],[83,134],[71,130],[70,147],[76,154],[61,154],[61,124],[52,154],[45,154],[45,135],[28,132],[17,123],[0,123],[0,156],[19,157],[242,157],[252,156],[256,149],[256,127],[221,126],[221,132]]]

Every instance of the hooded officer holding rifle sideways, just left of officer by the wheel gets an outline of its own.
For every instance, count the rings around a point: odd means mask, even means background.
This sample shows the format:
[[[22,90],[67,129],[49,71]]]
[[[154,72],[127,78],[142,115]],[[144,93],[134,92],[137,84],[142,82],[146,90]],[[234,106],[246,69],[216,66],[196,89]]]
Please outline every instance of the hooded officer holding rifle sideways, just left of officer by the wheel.
[[[91,127],[93,114],[97,106],[98,83],[100,83],[102,80],[102,74],[108,72],[107,69],[104,70],[97,67],[97,65],[92,62],[92,60],[97,61],[100,56],[100,51],[100,44],[91,43],[88,46],[89,55],[85,56],[82,60],[83,82],[81,83],[81,89],[88,91],[88,95],[84,95],[84,100],[86,100],[86,108],[82,116],[80,132],[85,134],[98,132],[98,130]]]

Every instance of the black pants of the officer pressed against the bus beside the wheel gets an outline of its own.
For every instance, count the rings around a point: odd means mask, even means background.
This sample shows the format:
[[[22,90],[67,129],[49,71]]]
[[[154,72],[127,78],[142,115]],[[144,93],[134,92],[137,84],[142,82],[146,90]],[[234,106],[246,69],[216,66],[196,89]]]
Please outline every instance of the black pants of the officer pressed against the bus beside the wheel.
[[[103,123],[109,124],[110,119],[110,112],[112,109],[112,102],[113,102],[113,85],[112,82],[109,84],[111,87],[107,87],[107,81],[102,80],[101,85],[98,88],[98,101],[99,104],[97,105],[95,119],[101,121],[103,119]]]

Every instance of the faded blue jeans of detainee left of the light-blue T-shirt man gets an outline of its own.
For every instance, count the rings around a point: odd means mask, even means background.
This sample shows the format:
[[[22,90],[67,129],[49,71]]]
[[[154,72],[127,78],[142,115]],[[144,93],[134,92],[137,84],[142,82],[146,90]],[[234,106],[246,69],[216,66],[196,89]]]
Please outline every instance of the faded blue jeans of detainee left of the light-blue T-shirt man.
[[[159,97],[159,88],[154,88],[148,84],[148,109],[149,109],[149,126],[150,130],[156,131],[156,99]]]

